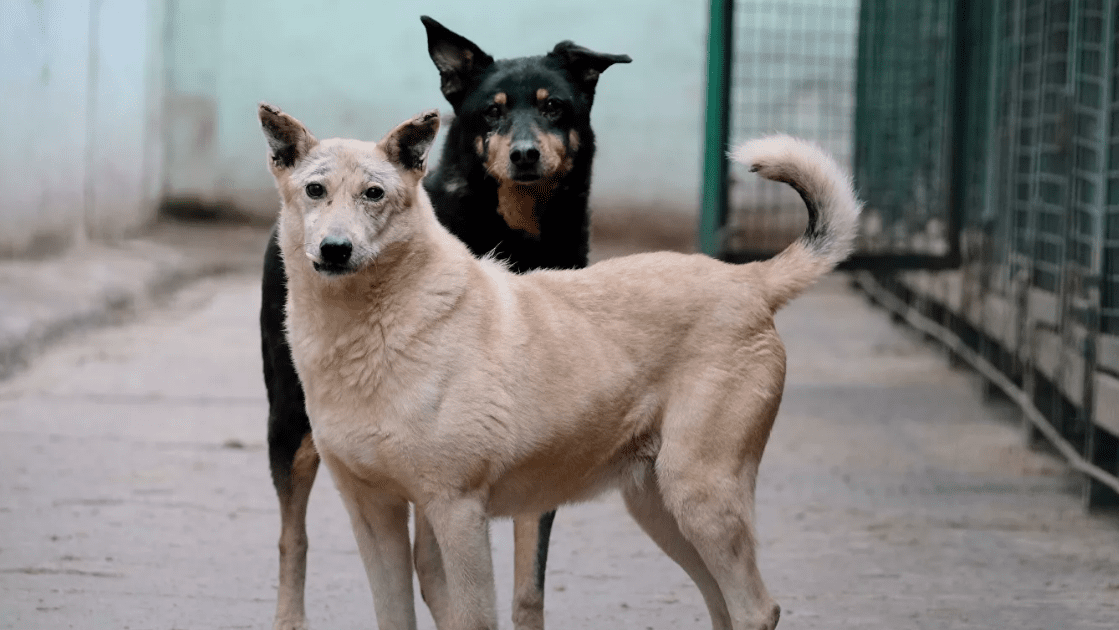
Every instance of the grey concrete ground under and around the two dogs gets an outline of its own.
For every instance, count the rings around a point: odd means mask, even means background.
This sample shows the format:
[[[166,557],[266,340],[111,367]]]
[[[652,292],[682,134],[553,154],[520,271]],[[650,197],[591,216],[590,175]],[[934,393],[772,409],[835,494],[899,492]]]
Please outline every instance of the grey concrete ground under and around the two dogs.
[[[199,281],[0,383],[0,628],[271,627],[258,299],[255,272]],[[1119,519],[1084,515],[1009,410],[841,276],[779,327],[758,529],[782,630],[1119,628]],[[312,627],[375,628],[327,474],[310,511]],[[509,628],[510,524],[492,538]],[[613,495],[560,510],[546,589],[552,629],[709,627]]]

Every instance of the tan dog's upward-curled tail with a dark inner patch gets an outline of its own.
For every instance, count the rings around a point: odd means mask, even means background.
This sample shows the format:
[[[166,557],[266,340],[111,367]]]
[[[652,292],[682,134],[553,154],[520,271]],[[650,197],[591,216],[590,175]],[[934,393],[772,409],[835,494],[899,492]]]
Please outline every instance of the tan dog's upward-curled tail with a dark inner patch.
[[[850,254],[862,209],[850,177],[822,149],[790,135],[751,140],[733,153],[752,172],[788,184],[808,207],[805,233],[772,258],[758,263],[775,311]]]

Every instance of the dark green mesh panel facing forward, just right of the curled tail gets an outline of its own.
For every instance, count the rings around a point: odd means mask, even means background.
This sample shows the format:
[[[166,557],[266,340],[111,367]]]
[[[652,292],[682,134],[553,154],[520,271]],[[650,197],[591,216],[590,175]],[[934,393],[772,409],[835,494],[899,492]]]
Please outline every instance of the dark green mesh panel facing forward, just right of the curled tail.
[[[951,186],[951,2],[863,2],[855,169],[866,199],[861,250],[950,255],[958,239]]]

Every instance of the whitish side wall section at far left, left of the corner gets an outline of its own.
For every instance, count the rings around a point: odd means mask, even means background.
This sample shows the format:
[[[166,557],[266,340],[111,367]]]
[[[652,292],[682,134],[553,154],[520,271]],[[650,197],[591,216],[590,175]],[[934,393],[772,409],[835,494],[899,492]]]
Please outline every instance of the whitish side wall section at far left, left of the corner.
[[[144,0],[0,3],[0,255],[154,216],[162,16]]]

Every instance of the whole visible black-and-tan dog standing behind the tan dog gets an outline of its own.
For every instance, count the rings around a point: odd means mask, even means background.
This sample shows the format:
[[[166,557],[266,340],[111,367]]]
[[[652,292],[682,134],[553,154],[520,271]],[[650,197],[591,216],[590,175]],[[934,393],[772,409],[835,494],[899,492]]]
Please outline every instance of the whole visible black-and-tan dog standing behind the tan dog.
[[[424,180],[440,220],[476,255],[515,271],[586,266],[587,196],[599,75],[626,55],[562,41],[543,56],[493,60],[435,20],[421,18],[443,95],[454,109],[443,156]],[[288,298],[273,231],[264,257],[261,346],[269,395],[269,458],[280,497],[280,591],[275,630],[305,628],[307,502],[319,458],[303,389],[284,336]],[[555,513],[516,520],[514,623],[544,627],[544,567]],[[421,584],[438,571],[416,549]]]

